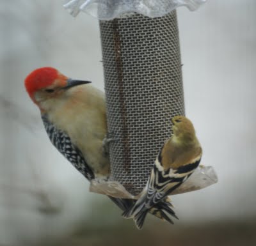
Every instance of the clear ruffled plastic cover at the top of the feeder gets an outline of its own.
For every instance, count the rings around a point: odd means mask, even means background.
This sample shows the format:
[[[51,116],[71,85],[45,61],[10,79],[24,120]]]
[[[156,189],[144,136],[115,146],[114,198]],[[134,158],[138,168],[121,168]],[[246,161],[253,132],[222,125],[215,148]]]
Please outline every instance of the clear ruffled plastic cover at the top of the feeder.
[[[179,6],[196,10],[206,0],[66,0],[64,8],[73,17],[86,12],[100,20],[111,20],[124,13],[140,13],[147,17],[161,17]]]

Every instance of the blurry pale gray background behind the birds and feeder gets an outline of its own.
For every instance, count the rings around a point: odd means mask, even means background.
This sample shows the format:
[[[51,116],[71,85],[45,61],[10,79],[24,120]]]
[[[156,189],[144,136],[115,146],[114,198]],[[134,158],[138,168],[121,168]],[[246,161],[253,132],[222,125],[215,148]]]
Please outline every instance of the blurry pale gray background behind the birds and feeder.
[[[230,238],[250,240],[256,228],[256,2],[215,0],[196,12],[178,10],[186,114],[204,148],[202,164],[214,166],[219,182],[173,196],[180,217],[175,226],[148,216],[142,233],[110,200],[88,192],[88,181],[49,142],[24,89],[26,75],[40,66],[104,88],[98,20],[84,13],[74,19],[62,3],[0,2],[0,245],[45,245],[66,238],[68,245],[114,245],[120,228],[127,237],[124,245],[134,244],[131,235],[154,245],[143,239],[150,231],[168,245],[168,234],[180,243],[184,232],[203,231],[205,225],[211,234],[205,242],[218,240],[230,225],[236,225]],[[219,233],[212,234],[212,226]],[[229,242],[223,238],[218,245]]]

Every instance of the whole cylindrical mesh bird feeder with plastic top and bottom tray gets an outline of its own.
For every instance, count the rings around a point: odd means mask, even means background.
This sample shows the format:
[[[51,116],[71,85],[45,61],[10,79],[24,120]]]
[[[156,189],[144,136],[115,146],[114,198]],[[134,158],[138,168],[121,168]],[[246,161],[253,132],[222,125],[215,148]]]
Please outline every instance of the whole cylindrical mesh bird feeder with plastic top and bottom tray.
[[[65,8],[99,19],[106,91],[111,178],[91,191],[136,198],[170,137],[170,119],[184,115],[176,8],[196,10],[204,0],[72,0]],[[193,178],[194,177],[194,178]],[[176,193],[216,183],[212,167],[200,167]]]

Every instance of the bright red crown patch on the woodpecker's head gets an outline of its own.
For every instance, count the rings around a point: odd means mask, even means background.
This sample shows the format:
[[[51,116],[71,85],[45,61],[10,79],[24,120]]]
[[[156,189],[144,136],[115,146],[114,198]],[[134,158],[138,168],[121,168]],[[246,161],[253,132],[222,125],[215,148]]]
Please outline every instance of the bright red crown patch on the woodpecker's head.
[[[25,79],[25,87],[32,98],[38,89],[50,86],[58,78],[58,70],[51,67],[37,68]]]

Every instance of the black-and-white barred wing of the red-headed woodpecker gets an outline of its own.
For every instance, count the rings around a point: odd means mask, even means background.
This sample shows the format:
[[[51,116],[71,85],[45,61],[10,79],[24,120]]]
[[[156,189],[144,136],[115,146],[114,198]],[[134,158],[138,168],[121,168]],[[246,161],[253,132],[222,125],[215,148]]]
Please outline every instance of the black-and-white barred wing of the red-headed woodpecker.
[[[57,150],[60,151],[60,153],[64,155],[64,157],[67,158],[67,160],[85,176],[85,178],[92,180],[94,178],[92,169],[84,160],[83,153],[81,153],[81,151],[72,144],[70,137],[68,137],[65,132],[56,128],[48,120],[47,116],[42,116],[42,121],[49,139]]]

